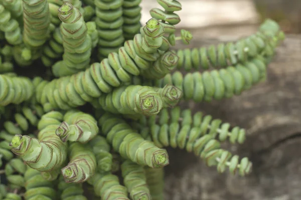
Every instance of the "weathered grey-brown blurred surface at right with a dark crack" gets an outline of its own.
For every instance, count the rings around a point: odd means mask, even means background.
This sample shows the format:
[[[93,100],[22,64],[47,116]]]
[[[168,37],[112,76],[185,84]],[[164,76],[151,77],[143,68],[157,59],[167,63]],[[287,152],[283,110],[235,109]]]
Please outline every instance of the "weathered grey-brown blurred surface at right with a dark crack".
[[[221,34],[223,30],[220,31]],[[190,47],[219,43],[195,34]],[[183,47],[183,46],[181,46]],[[180,46],[177,46],[180,48]],[[253,171],[219,174],[204,160],[181,149],[168,149],[165,194],[168,200],[300,200],[301,199],[301,35],[286,35],[267,67],[267,80],[219,101],[181,104],[246,129],[242,145],[223,143]]]

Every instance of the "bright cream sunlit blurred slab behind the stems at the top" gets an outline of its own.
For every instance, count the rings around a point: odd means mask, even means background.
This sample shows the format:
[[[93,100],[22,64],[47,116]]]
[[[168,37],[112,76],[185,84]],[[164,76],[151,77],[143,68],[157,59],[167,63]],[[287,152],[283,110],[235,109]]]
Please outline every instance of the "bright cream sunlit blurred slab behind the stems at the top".
[[[177,14],[181,22],[177,27],[206,27],[233,23],[258,22],[252,0],[181,0],[183,9]],[[162,8],[156,0],[142,0],[142,24],[151,18],[149,9]]]

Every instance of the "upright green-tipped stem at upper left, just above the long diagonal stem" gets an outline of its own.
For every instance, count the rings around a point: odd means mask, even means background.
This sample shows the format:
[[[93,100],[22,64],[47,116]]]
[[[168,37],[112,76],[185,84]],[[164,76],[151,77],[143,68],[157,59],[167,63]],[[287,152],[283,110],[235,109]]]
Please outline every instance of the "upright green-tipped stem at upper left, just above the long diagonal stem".
[[[78,8],[65,2],[59,8],[61,33],[63,36],[63,60],[52,66],[56,76],[71,75],[89,66],[92,40],[88,28]]]

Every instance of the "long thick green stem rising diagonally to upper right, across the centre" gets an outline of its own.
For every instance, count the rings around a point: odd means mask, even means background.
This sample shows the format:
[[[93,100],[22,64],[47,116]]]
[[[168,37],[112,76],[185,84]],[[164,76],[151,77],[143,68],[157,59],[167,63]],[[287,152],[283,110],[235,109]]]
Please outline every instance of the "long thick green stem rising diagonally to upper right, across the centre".
[[[143,31],[144,36],[136,34],[134,40],[127,40],[119,48],[118,53],[111,52],[108,58],[93,63],[85,71],[53,79],[47,84],[43,82],[43,86],[38,86],[41,90],[37,101],[49,106],[45,111],[70,109],[91,102],[102,93],[110,93],[113,87],[129,82],[132,75],[139,75],[141,70],[152,67],[160,57],[158,48],[164,46],[167,50],[169,45],[163,45],[166,42],[163,39],[164,29],[158,20],[150,19]]]

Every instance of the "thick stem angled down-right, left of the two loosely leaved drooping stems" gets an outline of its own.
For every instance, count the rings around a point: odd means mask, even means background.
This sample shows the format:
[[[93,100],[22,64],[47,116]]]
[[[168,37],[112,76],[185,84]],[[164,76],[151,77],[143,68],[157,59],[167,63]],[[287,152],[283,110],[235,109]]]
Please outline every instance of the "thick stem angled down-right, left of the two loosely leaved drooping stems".
[[[102,134],[123,158],[153,168],[169,164],[166,149],[158,148],[153,142],[144,140],[123,119],[105,113],[98,123],[102,128]]]

